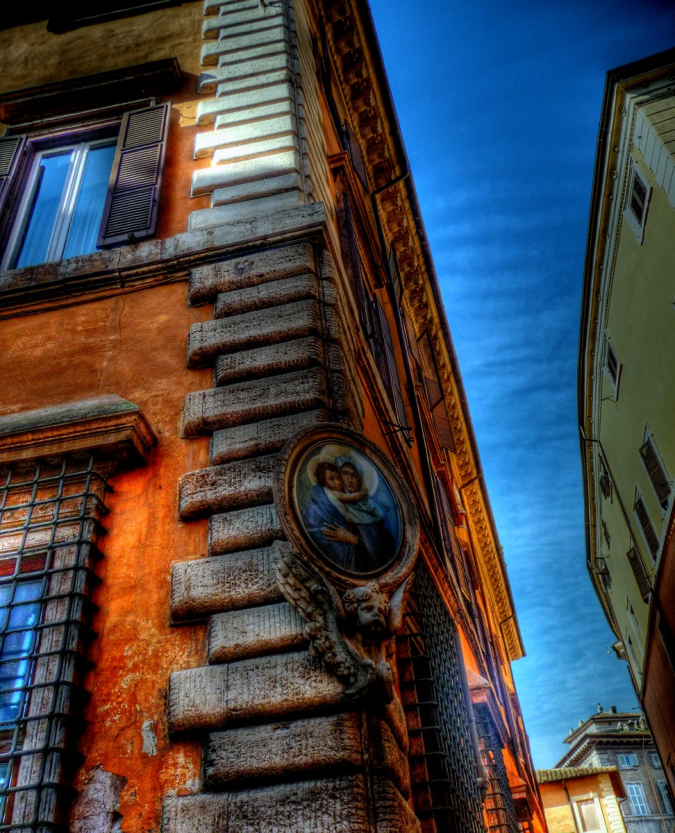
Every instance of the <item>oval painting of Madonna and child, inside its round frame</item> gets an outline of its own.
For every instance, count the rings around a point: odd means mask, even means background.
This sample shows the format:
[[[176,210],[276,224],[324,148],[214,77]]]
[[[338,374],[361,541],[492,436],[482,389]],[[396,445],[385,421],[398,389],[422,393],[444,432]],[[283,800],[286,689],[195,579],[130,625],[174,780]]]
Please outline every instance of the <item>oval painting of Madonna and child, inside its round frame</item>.
[[[401,511],[382,471],[353,446],[310,448],[297,469],[295,497],[306,533],[342,570],[373,573],[398,555]]]

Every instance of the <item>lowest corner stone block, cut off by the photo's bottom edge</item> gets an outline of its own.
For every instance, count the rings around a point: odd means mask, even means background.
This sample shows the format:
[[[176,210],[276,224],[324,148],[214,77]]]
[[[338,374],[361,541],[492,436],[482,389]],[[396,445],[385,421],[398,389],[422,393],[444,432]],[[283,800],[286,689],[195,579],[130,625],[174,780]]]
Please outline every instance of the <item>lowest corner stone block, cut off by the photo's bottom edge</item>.
[[[167,798],[163,802],[162,831],[374,833],[363,776]]]

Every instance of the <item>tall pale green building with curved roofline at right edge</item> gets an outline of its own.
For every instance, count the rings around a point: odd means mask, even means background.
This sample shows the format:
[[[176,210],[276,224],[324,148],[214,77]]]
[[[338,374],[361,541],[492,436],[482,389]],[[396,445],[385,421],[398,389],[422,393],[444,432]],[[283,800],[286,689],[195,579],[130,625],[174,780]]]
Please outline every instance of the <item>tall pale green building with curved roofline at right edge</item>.
[[[582,292],[587,566],[675,789],[675,50],[609,72]]]

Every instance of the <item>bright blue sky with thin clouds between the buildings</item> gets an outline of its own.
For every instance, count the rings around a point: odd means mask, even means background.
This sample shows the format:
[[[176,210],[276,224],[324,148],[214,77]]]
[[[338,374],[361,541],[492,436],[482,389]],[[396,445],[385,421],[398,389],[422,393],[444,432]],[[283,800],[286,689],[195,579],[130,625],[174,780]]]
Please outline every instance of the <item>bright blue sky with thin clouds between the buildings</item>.
[[[576,362],[607,70],[675,46],[672,2],[371,0],[527,657],[537,767],[637,706],[584,566]]]

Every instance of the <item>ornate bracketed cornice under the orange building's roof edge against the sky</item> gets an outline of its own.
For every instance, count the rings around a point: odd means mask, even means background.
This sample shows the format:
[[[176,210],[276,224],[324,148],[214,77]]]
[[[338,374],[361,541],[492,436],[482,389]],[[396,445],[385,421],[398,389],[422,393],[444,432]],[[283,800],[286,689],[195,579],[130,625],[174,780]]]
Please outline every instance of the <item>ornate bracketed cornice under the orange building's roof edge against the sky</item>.
[[[333,67],[338,73],[339,87],[345,93],[345,103],[353,127],[362,143],[369,181],[375,187],[382,187],[406,173],[402,166],[407,165],[407,162],[399,158],[394,139],[398,127],[391,122],[378,83],[373,80],[380,74],[378,56],[374,54],[377,47],[368,42],[371,35],[366,31],[356,0],[333,0],[324,3],[321,11]],[[441,312],[431,291],[432,279],[426,266],[428,252],[425,252],[426,238],[420,232],[421,220],[415,216],[405,182],[398,182],[384,191],[380,197],[380,207],[385,234],[396,248],[405,296],[413,312],[417,331],[428,329],[431,336],[457,448],[451,465],[459,484],[475,480],[473,488],[465,493],[469,523],[480,547],[507,653],[509,659],[514,660],[523,656],[524,650],[488,511],[488,498],[483,485],[476,479],[479,467],[470,439],[468,412],[454,376]]]

